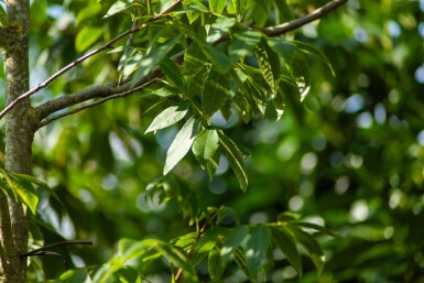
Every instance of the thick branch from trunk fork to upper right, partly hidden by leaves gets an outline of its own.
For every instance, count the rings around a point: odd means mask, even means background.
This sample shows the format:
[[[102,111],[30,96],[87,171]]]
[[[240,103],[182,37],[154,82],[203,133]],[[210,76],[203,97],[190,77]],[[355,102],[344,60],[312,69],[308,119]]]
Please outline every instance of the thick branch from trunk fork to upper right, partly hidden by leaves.
[[[282,34],[287,33],[290,31],[296,30],[304,24],[307,24],[312,21],[315,21],[317,19],[323,18],[324,15],[328,14],[329,12],[331,12],[336,8],[340,7],[341,4],[346,3],[347,1],[348,0],[333,0],[333,1],[328,2],[327,4],[323,6],[322,8],[317,9],[317,10],[313,11],[312,13],[304,15],[300,19],[290,21],[287,23],[281,24],[281,25],[264,28],[264,29],[261,29],[260,31],[263,32],[264,34],[267,34],[268,36],[282,35]],[[171,10],[178,2],[180,1],[175,2],[172,7],[166,9],[166,11]],[[165,13],[165,11],[162,12],[161,14],[163,14],[163,13]],[[159,18],[159,17],[160,15],[157,15],[156,18]],[[129,31],[131,31],[131,30],[129,30]],[[126,33],[126,35],[128,35],[128,34],[129,33]],[[222,37],[225,37],[224,40],[230,39],[228,35],[224,35]],[[219,39],[217,42],[222,42],[222,39]],[[106,46],[106,45],[104,45],[104,46]],[[182,63],[183,58],[184,58],[184,53],[185,53],[184,51],[181,52],[180,54],[175,55],[173,59],[176,63]],[[145,86],[151,85],[153,81],[155,81],[162,75],[163,75],[163,73],[161,72],[161,69],[156,67],[152,70],[152,74],[148,78],[142,79],[134,87],[131,86],[131,84],[129,81],[124,83],[121,86],[117,86],[117,83],[109,83],[109,84],[105,84],[105,85],[93,86],[93,87],[89,87],[89,88],[84,89],[81,91],[75,92],[73,95],[63,96],[63,97],[50,100],[50,101],[39,106],[37,108],[35,108],[35,112],[36,112],[36,115],[41,121],[39,124],[39,128],[41,128],[45,124],[48,124],[52,121],[57,120],[62,117],[65,117],[65,116],[68,116],[68,115],[75,113],[75,112],[79,112],[84,109],[100,105],[107,100],[111,100],[111,99],[120,98],[120,97],[126,97],[126,96],[129,96],[135,91],[142,90]],[[61,113],[56,117],[43,120],[47,116],[50,116],[50,115],[52,115],[58,110],[62,110],[62,109],[68,108],[70,106],[75,106],[77,104],[85,102],[85,101],[88,101],[88,100],[91,100],[95,98],[102,98],[102,99],[95,101],[93,104],[89,104],[89,105],[80,106],[76,109]],[[4,109],[4,110],[7,110],[7,109]],[[1,119],[1,113],[0,113],[0,119]]]

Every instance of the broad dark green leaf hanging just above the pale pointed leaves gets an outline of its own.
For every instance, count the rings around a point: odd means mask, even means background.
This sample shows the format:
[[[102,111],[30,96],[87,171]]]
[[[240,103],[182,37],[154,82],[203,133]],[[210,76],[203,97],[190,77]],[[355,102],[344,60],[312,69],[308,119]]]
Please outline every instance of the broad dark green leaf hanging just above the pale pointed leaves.
[[[204,90],[202,94],[202,109],[207,117],[218,111],[229,98],[230,84],[224,74],[209,69],[205,74]]]

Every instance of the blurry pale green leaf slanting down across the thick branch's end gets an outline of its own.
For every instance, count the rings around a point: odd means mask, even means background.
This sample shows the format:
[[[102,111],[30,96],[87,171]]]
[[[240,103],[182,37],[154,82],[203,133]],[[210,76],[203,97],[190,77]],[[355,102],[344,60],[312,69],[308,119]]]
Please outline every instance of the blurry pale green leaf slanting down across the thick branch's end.
[[[138,69],[131,80],[132,85],[137,85],[142,78],[149,75],[149,73],[166,56],[172,47],[174,47],[180,39],[181,35],[176,35],[161,45],[150,48],[149,52],[141,57],[138,64]]]

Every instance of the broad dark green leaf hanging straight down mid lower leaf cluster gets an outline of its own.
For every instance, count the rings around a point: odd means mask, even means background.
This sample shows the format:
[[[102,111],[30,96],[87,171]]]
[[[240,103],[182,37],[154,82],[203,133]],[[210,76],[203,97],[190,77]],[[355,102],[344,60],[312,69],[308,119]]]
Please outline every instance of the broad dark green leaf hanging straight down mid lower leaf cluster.
[[[270,229],[264,225],[258,225],[252,228],[250,235],[246,244],[246,261],[251,277],[256,277],[270,243]]]

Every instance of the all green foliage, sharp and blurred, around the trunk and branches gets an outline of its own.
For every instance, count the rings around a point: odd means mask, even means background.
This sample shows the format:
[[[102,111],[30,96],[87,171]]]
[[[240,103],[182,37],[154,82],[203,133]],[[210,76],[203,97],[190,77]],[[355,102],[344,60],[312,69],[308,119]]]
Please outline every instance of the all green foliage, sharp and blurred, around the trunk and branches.
[[[95,241],[62,250],[66,272],[31,258],[29,281],[421,282],[421,2],[350,1],[279,36],[264,28],[323,1],[185,0],[161,14],[173,3],[32,4],[34,85],[140,28],[35,105],[150,83],[40,129],[37,178],[1,172],[33,213],[31,248]]]

